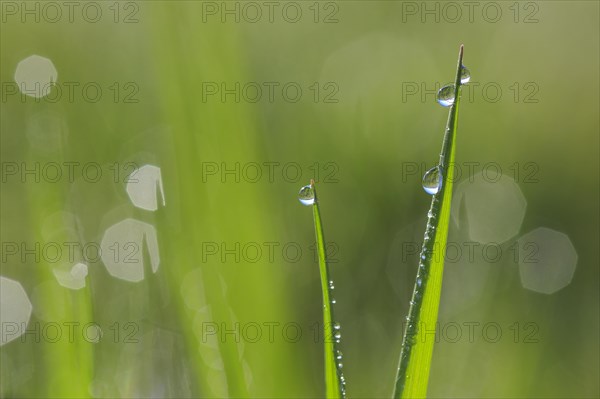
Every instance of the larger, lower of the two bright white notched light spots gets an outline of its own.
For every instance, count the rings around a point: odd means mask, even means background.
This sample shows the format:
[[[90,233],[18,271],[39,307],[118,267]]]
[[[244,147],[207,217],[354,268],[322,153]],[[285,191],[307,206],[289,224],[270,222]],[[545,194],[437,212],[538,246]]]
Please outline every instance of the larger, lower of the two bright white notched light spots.
[[[101,258],[108,272],[126,281],[144,279],[144,252],[147,250],[152,272],[160,263],[154,226],[135,219],[113,224],[104,232],[100,243]]]

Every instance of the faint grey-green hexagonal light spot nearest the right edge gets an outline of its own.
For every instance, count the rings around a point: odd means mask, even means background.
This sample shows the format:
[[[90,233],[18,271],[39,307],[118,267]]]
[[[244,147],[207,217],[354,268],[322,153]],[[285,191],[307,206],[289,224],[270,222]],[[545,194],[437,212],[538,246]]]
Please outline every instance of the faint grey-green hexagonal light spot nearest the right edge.
[[[553,294],[569,285],[577,266],[577,251],[569,236],[539,227],[521,236],[517,243],[523,287]]]

